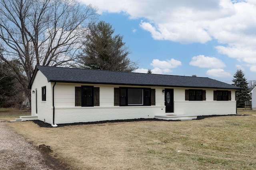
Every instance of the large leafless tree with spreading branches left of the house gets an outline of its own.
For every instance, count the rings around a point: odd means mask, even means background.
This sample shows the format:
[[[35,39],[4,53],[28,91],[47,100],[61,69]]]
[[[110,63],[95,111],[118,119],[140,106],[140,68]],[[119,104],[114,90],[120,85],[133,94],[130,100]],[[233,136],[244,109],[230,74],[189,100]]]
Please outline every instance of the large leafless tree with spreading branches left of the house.
[[[28,96],[35,65],[75,64],[88,23],[98,17],[76,0],[0,0],[0,6],[0,59]],[[14,59],[21,70],[12,66]]]

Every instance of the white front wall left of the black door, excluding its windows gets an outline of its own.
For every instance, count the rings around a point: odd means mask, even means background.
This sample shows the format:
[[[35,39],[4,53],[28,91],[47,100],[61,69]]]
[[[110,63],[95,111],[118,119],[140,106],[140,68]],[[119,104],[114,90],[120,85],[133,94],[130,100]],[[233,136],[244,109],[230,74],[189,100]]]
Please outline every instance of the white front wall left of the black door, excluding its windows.
[[[75,107],[75,86],[100,87],[100,106]],[[114,88],[120,86],[57,83],[54,88],[55,122],[74,123],[117,119],[154,118],[165,114],[163,88],[156,89],[157,106],[114,106]]]

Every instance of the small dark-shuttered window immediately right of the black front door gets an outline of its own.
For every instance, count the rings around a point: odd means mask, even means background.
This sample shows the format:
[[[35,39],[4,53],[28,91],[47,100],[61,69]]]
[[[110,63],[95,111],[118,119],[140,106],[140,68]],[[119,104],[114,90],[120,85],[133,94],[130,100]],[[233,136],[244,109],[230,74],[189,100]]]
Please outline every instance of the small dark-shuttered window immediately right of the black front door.
[[[185,100],[189,100],[189,101],[206,100],[206,90],[197,90],[197,89],[185,90]]]

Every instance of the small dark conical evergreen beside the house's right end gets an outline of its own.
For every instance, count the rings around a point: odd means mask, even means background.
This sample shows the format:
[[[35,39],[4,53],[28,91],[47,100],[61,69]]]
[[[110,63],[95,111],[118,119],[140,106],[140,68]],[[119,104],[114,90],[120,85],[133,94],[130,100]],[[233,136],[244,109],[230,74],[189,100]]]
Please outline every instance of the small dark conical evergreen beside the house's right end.
[[[244,77],[244,73],[242,72],[242,70],[237,70],[233,77],[234,77],[234,79],[232,80],[232,82],[234,82],[233,85],[242,88],[241,90],[238,90],[236,92],[236,106],[244,107],[245,101],[248,101],[251,99],[250,91],[248,88],[248,82]]]

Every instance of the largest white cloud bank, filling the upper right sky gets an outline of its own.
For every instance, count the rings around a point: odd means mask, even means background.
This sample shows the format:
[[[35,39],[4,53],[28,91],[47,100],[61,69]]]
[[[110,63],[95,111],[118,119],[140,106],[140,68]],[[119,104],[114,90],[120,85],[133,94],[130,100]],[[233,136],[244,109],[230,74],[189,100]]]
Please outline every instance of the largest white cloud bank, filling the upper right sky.
[[[140,27],[157,40],[206,43],[216,39],[219,53],[256,63],[255,0],[81,0],[98,13],[124,12],[143,19]]]

